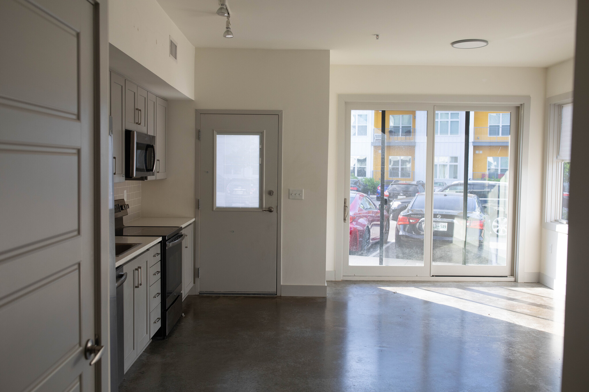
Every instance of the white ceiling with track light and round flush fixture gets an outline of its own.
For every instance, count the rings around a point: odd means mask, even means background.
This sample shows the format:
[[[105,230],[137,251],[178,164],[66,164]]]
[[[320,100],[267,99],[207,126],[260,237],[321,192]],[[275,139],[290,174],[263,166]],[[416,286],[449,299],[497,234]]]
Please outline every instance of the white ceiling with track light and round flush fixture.
[[[217,0],[158,2],[197,48],[330,49],[332,64],[544,67],[574,54],[575,0],[227,0],[230,39]],[[489,45],[450,46],[468,38]]]

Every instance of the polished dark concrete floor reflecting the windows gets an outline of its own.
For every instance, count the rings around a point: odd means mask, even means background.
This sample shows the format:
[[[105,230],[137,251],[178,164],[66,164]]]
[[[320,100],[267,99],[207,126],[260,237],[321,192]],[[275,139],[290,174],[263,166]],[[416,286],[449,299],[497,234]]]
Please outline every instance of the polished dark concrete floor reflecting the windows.
[[[558,391],[564,298],[538,283],[327,282],[190,296],[120,391]]]

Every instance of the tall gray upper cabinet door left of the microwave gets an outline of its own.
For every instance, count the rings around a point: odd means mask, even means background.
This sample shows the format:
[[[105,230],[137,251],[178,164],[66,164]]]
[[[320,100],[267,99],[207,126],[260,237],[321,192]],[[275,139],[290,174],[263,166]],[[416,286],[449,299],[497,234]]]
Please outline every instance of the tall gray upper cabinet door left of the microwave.
[[[114,182],[125,180],[124,162],[125,156],[123,144],[125,129],[125,79],[121,75],[110,72],[111,75],[111,96],[110,115],[112,117],[112,174]]]

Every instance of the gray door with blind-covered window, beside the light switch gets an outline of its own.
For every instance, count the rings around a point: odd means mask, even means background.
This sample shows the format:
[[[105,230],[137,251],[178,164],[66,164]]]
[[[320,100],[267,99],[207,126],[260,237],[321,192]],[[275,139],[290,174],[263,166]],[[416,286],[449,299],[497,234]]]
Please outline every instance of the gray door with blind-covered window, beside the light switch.
[[[200,293],[276,294],[278,115],[200,115]]]

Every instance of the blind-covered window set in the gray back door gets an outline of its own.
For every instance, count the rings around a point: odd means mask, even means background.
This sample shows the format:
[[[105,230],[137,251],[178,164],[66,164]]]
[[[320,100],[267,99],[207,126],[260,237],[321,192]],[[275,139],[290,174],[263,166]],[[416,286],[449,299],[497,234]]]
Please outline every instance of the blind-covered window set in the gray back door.
[[[215,209],[259,209],[262,132],[215,132]]]

